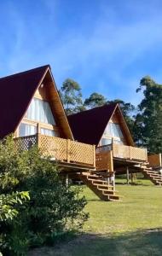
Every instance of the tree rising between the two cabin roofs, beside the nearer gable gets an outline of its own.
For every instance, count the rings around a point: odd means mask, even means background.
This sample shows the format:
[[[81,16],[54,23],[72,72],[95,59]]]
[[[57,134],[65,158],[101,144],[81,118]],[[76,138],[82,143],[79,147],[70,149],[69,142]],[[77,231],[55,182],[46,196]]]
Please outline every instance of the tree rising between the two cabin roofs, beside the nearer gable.
[[[74,80],[66,79],[61,86],[59,94],[67,115],[84,110],[81,88]]]

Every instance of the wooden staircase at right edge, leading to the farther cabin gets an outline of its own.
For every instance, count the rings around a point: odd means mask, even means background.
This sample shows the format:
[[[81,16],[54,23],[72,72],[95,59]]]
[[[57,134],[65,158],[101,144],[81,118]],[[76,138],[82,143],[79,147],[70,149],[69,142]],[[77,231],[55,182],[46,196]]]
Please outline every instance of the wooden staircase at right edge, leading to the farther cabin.
[[[162,175],[153,168],[144,168],[142,169],[143,174],[148,177],[155,185],[162,186]]]

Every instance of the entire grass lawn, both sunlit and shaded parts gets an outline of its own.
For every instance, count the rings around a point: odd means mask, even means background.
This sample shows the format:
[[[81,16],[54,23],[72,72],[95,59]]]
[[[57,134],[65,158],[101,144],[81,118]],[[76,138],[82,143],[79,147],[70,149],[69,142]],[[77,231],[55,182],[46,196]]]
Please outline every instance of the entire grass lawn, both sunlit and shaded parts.
[[[116,189],[121,201],[100,201],[84,186],[90,212],[83,235],[54,248],[30,255],[106,256],[162,254],[162,188],[149,181],[122,184]]]

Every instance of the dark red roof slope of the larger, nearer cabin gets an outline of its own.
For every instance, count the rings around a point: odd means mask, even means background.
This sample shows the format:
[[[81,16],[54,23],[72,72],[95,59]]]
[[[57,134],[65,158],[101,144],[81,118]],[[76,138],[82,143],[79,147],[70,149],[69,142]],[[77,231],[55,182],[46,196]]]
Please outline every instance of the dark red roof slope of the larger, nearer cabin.
[[[49,65],[0,79],[0,138],[15,131]]]

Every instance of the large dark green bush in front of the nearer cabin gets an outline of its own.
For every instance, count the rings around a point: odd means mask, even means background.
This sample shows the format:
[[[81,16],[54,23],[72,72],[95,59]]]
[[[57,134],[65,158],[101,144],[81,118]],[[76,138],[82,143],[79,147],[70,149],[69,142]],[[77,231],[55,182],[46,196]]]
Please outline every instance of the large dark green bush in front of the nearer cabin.
[[[29,191],[30,201],[16,205],[14,219],[0,222],[1,247],[5,255],[26,255],[29,247],[51,243],[79,230],[88,214],[79,189],[66,186],[58,167],[37,148],[18,152],[12,138],[0,143],[0,195]],[[5,185],[3,185],[5,184]]]

